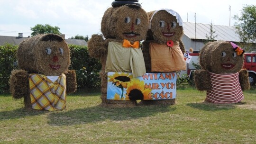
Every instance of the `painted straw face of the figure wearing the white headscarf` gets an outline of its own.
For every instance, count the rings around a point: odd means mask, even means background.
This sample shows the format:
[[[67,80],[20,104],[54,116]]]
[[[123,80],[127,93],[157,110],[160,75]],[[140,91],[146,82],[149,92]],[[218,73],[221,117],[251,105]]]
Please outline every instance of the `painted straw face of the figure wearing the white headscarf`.
[[[175,16],[165,10],[158,11],[151,20],[151,31],[157,43],[179,41],[183,35],[183,28],[179,26]]]

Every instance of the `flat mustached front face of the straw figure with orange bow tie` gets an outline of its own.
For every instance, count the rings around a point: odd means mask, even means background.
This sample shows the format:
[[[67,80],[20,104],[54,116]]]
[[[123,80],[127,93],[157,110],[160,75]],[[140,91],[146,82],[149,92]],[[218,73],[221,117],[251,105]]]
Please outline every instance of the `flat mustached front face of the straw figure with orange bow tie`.
[[[115,33],[118,39],[141,41],[148,30],[146,11],[135,5],[120,7],[115,14],[117,18]]]

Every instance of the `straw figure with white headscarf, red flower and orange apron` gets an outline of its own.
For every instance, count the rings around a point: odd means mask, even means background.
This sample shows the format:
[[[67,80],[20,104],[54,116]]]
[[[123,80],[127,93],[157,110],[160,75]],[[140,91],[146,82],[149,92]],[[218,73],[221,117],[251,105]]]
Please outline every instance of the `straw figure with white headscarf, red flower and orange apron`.
[[[176,72],[186,70],[183,54],[185,48],[181,37],[183,21],[172,9],[160,9],[147,13],[149,27],[143,42],[146,72]],[[143,100],[144,104],[174,104],[175,99]]]

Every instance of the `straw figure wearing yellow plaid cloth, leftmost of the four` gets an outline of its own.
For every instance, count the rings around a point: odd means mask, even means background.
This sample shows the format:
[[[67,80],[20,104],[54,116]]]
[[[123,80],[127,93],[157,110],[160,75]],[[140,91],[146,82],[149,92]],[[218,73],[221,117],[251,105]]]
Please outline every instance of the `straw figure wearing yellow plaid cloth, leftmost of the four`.
[[[17,58],[19,69],[9,79],[13,98],[24,98],[25,108],[64,109],[66,93],[76,90],[65,40],[55,34],[27,38],[19,44]]]

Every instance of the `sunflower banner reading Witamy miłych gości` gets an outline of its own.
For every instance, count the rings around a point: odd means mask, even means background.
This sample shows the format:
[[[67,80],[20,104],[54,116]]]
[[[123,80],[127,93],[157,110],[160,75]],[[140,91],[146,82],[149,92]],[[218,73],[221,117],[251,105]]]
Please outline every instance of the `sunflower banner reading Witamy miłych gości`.
[[[107,99],[175,99],[176,80],[174,72],[145,73],[136,78],[130,72],[108,72]]]

